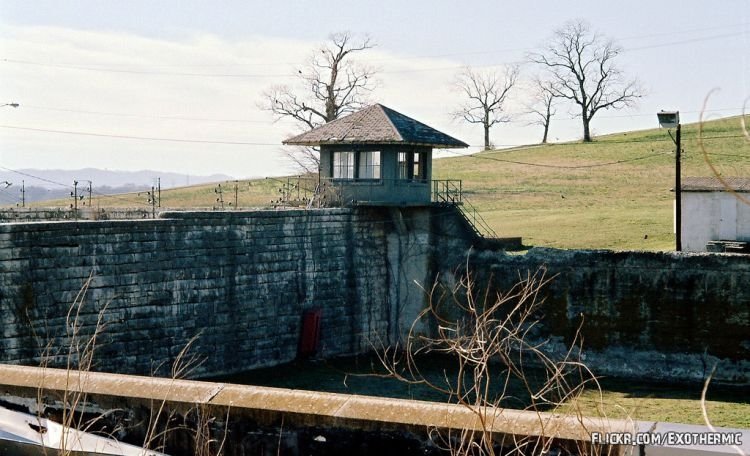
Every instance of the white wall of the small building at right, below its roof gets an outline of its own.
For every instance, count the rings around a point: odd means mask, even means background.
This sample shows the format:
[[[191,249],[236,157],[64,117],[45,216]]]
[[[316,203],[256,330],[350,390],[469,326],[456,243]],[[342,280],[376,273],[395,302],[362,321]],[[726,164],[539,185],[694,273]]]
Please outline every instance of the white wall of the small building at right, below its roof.
[[[728,192],[683,192],[683,250],[705,252],[717,240],[750,241],[750,205]]]

